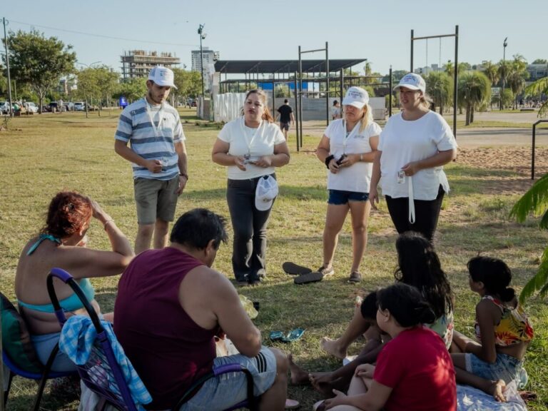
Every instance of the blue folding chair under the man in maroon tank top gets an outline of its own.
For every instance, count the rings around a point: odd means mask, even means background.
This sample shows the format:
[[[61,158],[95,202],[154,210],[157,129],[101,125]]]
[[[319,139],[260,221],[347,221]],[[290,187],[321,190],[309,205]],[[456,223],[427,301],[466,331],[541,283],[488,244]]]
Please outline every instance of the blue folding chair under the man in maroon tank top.
[[[76,280],[61,268],[54,268],[51,270],[51,273],[48,275],[47,279],[47,288],[48,293],[51,298],[51,303],[54,305],[55,313],[61,326],[66,322],[65,315],[61,306],[59,305],[59,300],[55,294],[54,288],[54,278],[59,278],[67,285],[69,285],[74,293],[80,298],[84,308],[88,312],[89,317],[93,323],[93,326],[96,328],[97,337],[96,342],[93,347],[93,353],[91,355],[91,360],[86,362],[85,365],[77,365],[78,373],[83,381],[83,383],[93,392],[95,392],[103,400],[103,407],[106,405],[113,405],[118,410],[122,411],[137,411],[136,405],[133,402],[128,385],[126,380],[123,377],[118,362],[113,354],[111,343],[108,340],[106,332],[101,325],[97,313],[93,310],[93,307],[88,302],[86,295],[83,294],[81,288],[79,287]],[[98,368],[98,365],[100,367]],[[101,371],[102,369],[103,371]],[[193,392],[196,392],[196,388],[201,386],[206,380],[217,377],[218,375],[225,374],[227,372],[244,372],[247,379],[247,390],[248,390],[248,399],[233,405],[225,411],[237,410],[238,408],[248,408],[249,410],[255,411],[258,410],[258,401],[253,396],[253,375],[245,367],[242,367],[239,364],[228,364],[221,367],[213,369],[208,375],[205,375],[201,379],[193,383],[181,397],[181,400],[172,408],[172,410],[178,410],[181,406],[188,401]],[[108,384],[105,383],[104,379],[106,375],[111,375],[112,378],[109,379],[109,382],[112,382],[112,379],[116,381],[116,388],[112,390]],[[111,384],[112,385],[112,384]]]

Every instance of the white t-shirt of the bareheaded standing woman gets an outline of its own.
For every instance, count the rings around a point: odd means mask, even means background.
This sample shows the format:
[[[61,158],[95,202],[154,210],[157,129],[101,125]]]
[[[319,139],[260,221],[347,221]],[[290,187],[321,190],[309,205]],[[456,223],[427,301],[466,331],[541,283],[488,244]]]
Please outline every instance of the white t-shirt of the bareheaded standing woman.
[[[219,140],[225,141],[230,147],[230,156],[250,155],[250,161],[256,161],[262,156],[274,154],[274,146],[284,143],[283,133],[275,123],[262,121],[258,128],[245,126],[243,116],[235,118],[225,124],[218,135]],[[228,166],[228,178],[230,180],[247,180],[260,176],[267,176],[275,171],[274,167],[257,167],[246,164],[246,170],[242,171],[237,166]]]

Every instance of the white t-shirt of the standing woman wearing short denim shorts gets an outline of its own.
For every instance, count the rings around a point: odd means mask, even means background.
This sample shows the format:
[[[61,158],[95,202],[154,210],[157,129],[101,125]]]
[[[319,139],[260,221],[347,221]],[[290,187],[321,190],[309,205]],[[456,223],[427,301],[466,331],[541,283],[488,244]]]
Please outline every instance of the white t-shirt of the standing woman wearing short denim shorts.
[[[361,123],[358,122],[355,128],[348,134],[345,130],[345,121],[342,118],[330,123],[325,128],[324,135],[329,138],[330,154],[335,159],[345,154],[369,153],[371,146],[369,139],[378,136],[382,131],[377,123],[369,123],[363,131],[360,131]],[[340,168],[334,174],[328,170],[328,189],[355,191],[357,193],[369,193],[373,163],[358,161],[350,167]]]

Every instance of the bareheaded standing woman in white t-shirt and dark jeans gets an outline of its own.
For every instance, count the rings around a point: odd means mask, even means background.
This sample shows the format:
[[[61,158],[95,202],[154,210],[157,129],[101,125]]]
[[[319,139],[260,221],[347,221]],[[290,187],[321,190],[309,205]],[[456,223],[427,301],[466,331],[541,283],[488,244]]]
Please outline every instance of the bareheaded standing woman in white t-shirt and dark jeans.
[[[266,207],[255,205],[255,191],[260,178],[275,178],[275,167],[289,163],[288,145],[273,121],[264,91],[248,91],[243,116],[226,123],[213,145],[213,161],[228,166],[226,200],[238,283],[259,283],[266,275],[266,228],[274,199],[263,198]]]

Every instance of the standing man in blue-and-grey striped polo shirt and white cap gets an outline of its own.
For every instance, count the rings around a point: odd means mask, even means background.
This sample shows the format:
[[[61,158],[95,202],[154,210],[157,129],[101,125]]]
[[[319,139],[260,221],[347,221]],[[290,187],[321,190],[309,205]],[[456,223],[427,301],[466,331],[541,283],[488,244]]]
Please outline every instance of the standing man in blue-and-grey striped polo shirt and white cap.
[[[153,67],[146,81],[148,91],[121,113],[114,150],[131,162],[137,203],[138,231],[135,253],[168,245],[169,222],[177,198],[188,181],[185,135],[179,113],[166,99],[173,71]],[[131,142],[131,147],[128,147]]]

